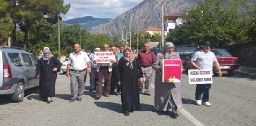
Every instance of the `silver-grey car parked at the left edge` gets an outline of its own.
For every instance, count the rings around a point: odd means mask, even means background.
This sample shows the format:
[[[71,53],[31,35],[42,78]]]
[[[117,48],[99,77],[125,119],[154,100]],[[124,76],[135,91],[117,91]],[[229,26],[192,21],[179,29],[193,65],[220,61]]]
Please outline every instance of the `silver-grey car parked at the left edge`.
[[[22,48],[0,46],[0,95],[23,101],[25,90],[39,86],[37,58]]]

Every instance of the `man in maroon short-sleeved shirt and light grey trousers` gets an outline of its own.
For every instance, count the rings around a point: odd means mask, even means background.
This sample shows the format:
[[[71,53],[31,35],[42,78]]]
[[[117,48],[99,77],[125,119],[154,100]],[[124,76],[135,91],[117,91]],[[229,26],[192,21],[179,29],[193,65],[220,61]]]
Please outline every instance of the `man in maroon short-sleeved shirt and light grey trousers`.
[[[144,44],[144,50],[138,53],[139,65],[141,66],[143,78],[145,78],[145,88],[144,94],[150,96],[149,94],[152,80],[152,65],[156,59],[156,55],[149,50],[149,43]],[[140,91],[142,92],[143,85],[140,87]]]

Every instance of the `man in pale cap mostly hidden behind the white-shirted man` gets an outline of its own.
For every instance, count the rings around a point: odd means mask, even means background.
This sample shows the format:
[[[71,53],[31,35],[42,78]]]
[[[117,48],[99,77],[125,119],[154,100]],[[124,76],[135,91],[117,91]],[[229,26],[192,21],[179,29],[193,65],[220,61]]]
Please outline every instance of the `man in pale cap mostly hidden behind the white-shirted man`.
[[[100,48],[95,48],[94,52],[100,52]],[[91,73],[90,73],[90,86],[91,89],[90,91],[96,90],[96,82],[97,82],[97,71],[96,71],[96,67],[97,67],[97,63],[94,64],[93,60],[95,58],[95,54],[94,53],[90,53],[88,54],[89,58],[90,58],[90,64],[91,64]]]

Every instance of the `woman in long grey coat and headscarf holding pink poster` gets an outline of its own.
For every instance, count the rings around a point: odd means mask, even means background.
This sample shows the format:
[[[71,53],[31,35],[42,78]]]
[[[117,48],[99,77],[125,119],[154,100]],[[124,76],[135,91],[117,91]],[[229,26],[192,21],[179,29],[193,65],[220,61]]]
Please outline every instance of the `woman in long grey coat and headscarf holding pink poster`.
[[[155,78],[155,107],[157,110],[168,111],[172,108],[172,116],[178,117],[177,108],[182,109],[181,82],[162,82],[163,59],[180,59],[178,53],[173,52],[174,45],[167,42],[162,53],[158,53],[152,68],[156,70]],[[183,72],[181,67],[180,72]]]

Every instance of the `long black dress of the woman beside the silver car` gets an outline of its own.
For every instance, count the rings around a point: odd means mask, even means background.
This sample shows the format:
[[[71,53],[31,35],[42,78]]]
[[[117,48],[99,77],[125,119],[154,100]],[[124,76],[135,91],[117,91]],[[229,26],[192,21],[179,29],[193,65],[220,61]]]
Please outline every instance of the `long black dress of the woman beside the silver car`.
[[[36,67],[36,75],[39,78],[39,98],[47,100],[48,97],[55,97],[55,82],[57,78],[57,71],[60,71],[61,63],[56,57],[50,58],[47,62],[40,58]],[[53,69],[57,68],[56,72]]]

